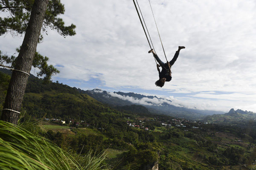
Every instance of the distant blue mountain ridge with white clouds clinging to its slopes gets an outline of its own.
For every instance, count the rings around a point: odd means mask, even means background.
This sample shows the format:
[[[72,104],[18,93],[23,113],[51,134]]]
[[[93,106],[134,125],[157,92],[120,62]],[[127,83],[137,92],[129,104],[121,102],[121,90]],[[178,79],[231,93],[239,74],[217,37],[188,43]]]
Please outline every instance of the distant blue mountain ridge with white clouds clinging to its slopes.
[[[79,89],[78,89],[79,90]],[[222,114],[221,111],[201,111],[196,109],[188,109],[180,106],[172,105],[172,101],[168,99],[158,98],[157,96],[145,96],[134,93],[123,92],[107,92],[100,89],[93,89],[82,91],[87,95],[93,97],[99,102],[111,106],[125,106],[125,105],[142,105],[148,108],[151,113],[166,114],[175,117],[184,117],[186,119],[198,120],[204,119],[206,115]]]

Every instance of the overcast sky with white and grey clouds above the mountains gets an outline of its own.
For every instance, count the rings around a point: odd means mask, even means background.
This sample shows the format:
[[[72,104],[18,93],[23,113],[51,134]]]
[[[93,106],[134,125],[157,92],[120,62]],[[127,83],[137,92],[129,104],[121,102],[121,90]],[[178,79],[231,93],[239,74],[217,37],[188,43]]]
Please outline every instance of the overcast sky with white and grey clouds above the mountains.
[[[256,1],[151,0],[171,60],[172,81],[156,87],[156,63],[133,0],[61,0],[66,25],[76,36],[44,33],[37,51],[61,71],[55,77],[83,90],[134,92],[206,110],[256,112]],[[138,0],[155,51],[166,62],[148,0]],[[0,37],[0,50],[14,54],[23,37]],[[34,74],[32,69],[31,73]]]

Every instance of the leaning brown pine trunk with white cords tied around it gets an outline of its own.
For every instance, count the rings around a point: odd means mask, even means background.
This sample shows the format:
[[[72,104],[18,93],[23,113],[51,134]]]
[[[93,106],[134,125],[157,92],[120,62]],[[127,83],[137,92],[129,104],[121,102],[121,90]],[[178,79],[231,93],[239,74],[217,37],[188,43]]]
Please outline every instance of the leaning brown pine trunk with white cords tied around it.
[[[28,27],[26,28],[26,34],[20,48],[20,53],[17,57],[15,70],[24,71],[26,73],[29,73],[31,70],[47,4],[48,0],[35,0],[33,4]],[[15,125],[18,121],[19,113],[17,112],[20,112],[29,77],[27,74],[20,71],[12,72],[12,78],[8,87],[1,116],[1,120]]]

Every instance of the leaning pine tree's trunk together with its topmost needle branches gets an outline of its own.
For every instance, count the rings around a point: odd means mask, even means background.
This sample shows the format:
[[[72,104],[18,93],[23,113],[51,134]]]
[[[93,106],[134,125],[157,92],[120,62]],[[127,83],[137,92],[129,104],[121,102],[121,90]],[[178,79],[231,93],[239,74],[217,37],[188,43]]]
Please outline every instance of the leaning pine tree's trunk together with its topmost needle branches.
[[[15,71],[12,73],[1,115],[1,120],[17,124],[28,81],[26,73],[31,70],[41,29],[46,31],[46,28],[50,27],[65,37],[75,35],[74,28],[76,26],[72,24],[66,27],[64,22],[57,18],[58,14],[64,13],[64,6],[60,0],[35,0],[34,2],[33,0],[1,0],[0,10],[9,10],[13,18],[13,21],[8,18],[0,18],[0,34],[7,31],[17,31],[18,34],[26,32],[16,59]],[[28,18],[29,21],[26,24]]]

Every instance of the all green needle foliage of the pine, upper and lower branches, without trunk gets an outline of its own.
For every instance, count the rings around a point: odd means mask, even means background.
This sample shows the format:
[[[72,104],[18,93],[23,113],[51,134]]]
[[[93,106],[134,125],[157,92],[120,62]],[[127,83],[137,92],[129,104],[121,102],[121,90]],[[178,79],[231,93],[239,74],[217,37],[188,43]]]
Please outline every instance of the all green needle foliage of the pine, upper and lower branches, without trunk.
[[[12,35],[24,34],[29,22],[34,0],[0,0],[0,13],[6,13],[8,17],[0,17],[0,35],[10,32]],[[47,33],[47,28],[57,30],[63,37],[73,36],[76,34],[76,26],[64,26],[64,21],[58,18],[59,14],[64,14],[64,5],[60,0],[49,0],[47,11],[44,18],[42,30]],[[41,35],[40,40],[43,37]],[[17,48],[19,52],[19,48]],[[51,76],[58,74],[59,71],[48,65],[48,57],[43,57],[38,52],[35,53],[33,67],[39,68],[38,77],[44,77],[44,81],[49,83]],[[16,57],[7,56],[0,51],[0,64],[10,64],[10,68],[15,67]]]

